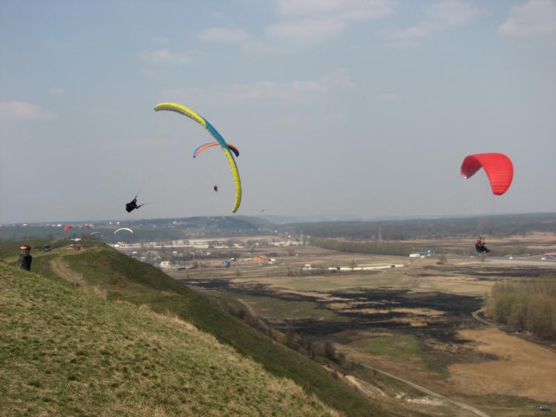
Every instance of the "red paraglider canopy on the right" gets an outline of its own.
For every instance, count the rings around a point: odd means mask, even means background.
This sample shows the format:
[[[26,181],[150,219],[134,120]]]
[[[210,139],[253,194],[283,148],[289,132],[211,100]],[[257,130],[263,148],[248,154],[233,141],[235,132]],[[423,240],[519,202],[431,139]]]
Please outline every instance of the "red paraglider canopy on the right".
[[[514,179],[514,165],[505,154],[474,154],[466,156],[461,163],[461,177],[471,178],[484,168],[491,182],[492,193],[504,194]]]

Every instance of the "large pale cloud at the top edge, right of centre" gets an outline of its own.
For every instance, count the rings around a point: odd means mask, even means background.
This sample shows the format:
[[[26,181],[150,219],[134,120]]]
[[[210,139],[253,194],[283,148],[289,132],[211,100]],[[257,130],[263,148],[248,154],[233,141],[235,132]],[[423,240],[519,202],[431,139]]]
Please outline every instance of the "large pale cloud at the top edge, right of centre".
[[[290,20],[271,24],[265,34],[275,40],[315,44],[338,35],[351,22],[393,13],[391,0],[279,0],[277,10]]]

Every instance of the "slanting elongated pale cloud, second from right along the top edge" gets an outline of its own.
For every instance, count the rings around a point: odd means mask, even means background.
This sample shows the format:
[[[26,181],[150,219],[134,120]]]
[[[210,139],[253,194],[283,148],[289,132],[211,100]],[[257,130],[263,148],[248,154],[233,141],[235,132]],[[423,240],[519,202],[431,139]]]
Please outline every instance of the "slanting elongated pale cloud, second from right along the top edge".
[[[453,26],[459,26],[471,22],[479,14],[479,10],[469,4],[458,0],[441,0],[423,8],[424,19],[408,26],[407,28],[383,31],[382,35],[391,38],[387,45],[402,47],[416,46],[416,42],[400,42],[404,40],[415,40],[425,38],[439,31],[445,31]]]

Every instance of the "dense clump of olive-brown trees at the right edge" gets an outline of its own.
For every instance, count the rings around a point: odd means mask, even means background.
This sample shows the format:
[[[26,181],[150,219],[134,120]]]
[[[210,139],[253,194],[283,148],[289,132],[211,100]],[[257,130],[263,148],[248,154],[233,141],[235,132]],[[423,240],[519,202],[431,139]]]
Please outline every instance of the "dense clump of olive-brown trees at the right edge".
[[[486,315],[521,332],[556,339],[556,276],[500,281],[486,296]]]

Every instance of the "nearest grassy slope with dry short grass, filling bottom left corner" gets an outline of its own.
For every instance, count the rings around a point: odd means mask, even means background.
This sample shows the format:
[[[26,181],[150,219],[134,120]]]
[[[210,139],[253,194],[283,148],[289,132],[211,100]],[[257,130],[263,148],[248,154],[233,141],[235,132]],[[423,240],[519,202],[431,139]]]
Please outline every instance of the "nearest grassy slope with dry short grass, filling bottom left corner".
[[[0,415],[336,416],[176,316],[0,263]]]

